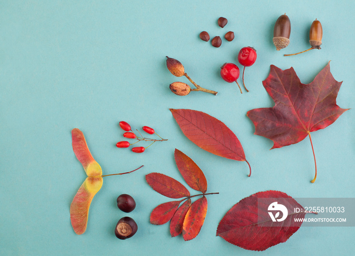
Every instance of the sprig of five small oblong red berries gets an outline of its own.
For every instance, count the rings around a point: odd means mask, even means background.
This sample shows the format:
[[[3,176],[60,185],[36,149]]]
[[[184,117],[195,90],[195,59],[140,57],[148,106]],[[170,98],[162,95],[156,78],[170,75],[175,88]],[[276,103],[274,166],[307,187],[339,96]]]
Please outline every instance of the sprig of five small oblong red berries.
[[[117,148],[128,148],[130,145],[133,145],[141,140],[144,140],[144,141],[152,141],[152,143],[148,146],[150,147],[154,142],[156,141],[164,141],[164,140],[167,140],[167,139],[163,139],[162,137],[160,137],[158,134],[155,133],[154,129],[153,128],[150,128],[148,126],[143,126],[142,129],[147,132],[148,134],[156,134],[160,139],[151,139],[151,138],[146,138],[146,137],[143,137],[143,135],[141,135],[141,133],[136,130],[140,137],[137,136],[131,129],[131,126],[125,122],[125,121],[121,121],[120,122],[120,127],[122,128],[122,130],[126,131],[125,133],[123,133],[123,137],[125,138],[129,138],[129,139],[136,139],[137,141],[134,142],[134,143],[129,143],[128,141],[126,140],[123,140],[123,141],[119,141],[116,143],[116,147]],[[145,150],[148,148],[148,147],[134,147],[132,148],[132,152],[134,153],[143,153],[145,152]]]

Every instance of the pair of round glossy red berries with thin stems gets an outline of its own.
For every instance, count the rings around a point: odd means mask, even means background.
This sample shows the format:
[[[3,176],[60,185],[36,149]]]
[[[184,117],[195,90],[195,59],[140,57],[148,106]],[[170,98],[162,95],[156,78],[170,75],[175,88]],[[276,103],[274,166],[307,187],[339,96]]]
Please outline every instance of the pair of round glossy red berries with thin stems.
[[[257,51],[253,47],[243,47],[239,51],[238,61],[242,66],[244,66],[242,80],[243,80],[243,86],[247,92],[248,90],[246,89],[244,84],[244,70],[245,67],[253,65],[256,60],[257,60]],[[241,88],[237,82],[239,78],[239,74],[240,71],[238,66],[233,63],[224,63],[224,65],[221,67],[221,77],[223,78],[223,80],[228,83],[236,82],[239,87],[240,93],[242,93]]]

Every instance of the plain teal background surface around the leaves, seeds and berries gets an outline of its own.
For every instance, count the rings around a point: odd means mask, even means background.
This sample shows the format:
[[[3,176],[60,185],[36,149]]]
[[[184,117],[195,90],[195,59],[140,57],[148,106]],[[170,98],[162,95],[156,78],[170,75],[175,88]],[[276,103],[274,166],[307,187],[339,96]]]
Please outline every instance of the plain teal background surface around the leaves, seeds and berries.
[[[1,1],[0,3],[0,254],[1,255],[349,255],[355,229],[301,227],[286,243],[266,251],[248,251],[216,237],[218,223],[239,200],[259,191],[279,190],[292,197],[355,197],[353,109],[334,124],[312,133],[318,177],[309,139],[274,149],[253,135],[246,112],[273,106],[262,86],[270,64],[293,66],[310,83],[331,61],[343,81],[337,102],[354,107],[353,1]],[[283,13],[291,19],[291,43],[276,51],[273,26]],[[224,28],[217,19],[226,17]],[[323,25],[322,50],[284,57],[309,48],[308,31],[317,18]],[[198,38],[202,30],[220,35],[214,48]],[[224,40],[234,31],[232,42]],[[220,66],[237,63],[240,48],[257,49],[246,68],[249,93],[224,82]],[[180,60],[199,85],[214,96],[193,92],[176,96],[176,78],[165,56]],[[240,65],[239,65],[240,66]],[[241,83],[241,80],[239,80]],[[251,163],[224,159],[199,149],[176,125],[169,108],[203,111],[225,122],[238,136]],[[134,129],[155,128],[165,142],[144,154],[117,149],[123,140],[119,121]],[[86,233],[76,235],[69,205],[86,175],[76,159],[70,131],[81,129],[105,177],[89,213]],[[141,143],[147,146],[147,144]],[[208,210],[200,234],[185,242],[171,238],[168,224],[149,223],[152,209],[169,199],[153,191],[145,174],[161,172],[186,184],[173,151],[190,156],[208,182]],[[192,189],[190,192],[195,193]],[[127,193],[137,203],[131,213],[117,208]],[[131,216],[138,232],[128,240],[114,235],[117,221]]]

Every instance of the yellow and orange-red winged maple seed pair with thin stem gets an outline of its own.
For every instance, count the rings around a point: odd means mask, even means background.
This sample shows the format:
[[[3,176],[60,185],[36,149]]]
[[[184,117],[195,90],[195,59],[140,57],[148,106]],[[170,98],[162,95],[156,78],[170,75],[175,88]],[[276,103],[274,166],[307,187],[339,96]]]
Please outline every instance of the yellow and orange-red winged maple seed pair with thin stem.
[[[91,201],[102,187],[102,177],[131,173],[143,165],[129,172],[102,175],[102,169],[92,157],[81,130],[77,128],[72,130],[72,141],[74,154],[88,176],[70,204],[70,222],[72,222],[75,233],[81,235],[86,231]]]

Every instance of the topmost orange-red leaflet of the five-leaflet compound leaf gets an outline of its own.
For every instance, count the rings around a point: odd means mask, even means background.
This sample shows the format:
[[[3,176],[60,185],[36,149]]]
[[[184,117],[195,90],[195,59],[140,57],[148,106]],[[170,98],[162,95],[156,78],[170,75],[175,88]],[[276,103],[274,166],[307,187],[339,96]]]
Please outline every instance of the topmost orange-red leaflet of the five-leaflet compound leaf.
[[[186,183],[194,190],[206,193],[207,180],[200,167],[180,150],[175,149],[174,156],[177,169],[183,175]]]

